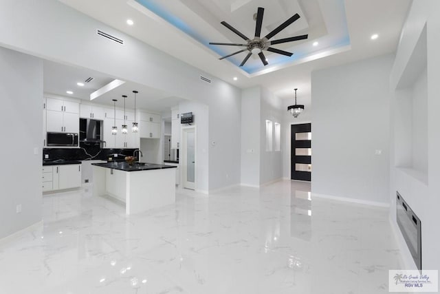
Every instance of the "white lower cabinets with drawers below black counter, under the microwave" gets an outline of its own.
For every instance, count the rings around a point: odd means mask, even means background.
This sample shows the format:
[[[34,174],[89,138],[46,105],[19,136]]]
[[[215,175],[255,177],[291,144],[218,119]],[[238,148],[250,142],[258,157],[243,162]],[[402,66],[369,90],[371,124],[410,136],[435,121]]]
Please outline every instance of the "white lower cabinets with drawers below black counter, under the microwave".
[[[43,192],[81,187],[81,165],[43,166]]]

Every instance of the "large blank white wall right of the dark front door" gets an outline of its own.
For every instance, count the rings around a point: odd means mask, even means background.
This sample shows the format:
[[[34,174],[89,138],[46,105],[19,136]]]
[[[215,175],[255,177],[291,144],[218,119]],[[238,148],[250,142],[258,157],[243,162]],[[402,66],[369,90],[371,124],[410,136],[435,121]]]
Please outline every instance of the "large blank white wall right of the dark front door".
[[[389,76],[394,56],[311,74],[312,192],[388,203]],[[382,155],[375,155],[375,150]]]

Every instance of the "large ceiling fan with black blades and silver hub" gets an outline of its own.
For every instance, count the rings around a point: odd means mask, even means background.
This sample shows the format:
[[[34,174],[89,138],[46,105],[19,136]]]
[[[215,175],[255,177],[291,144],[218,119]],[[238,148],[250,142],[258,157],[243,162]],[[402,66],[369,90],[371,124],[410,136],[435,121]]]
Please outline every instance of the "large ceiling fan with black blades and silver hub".
[[[292,23],[294,23],[296,20],[298,20],[300,18],[299,14],[296,13],[293,17],[287,19],[287,21],[285,21],[284,23],[281,23],[281,25],[278,25],[278,27],[275,28],[274,30],[272,30],[272,32],[270,32],[269,34],[267,34],[263,38],[261,38],[260,35],[261,35],[261,25],[263,24],[263,14],[264,14],[264,8],[259,7],[258,11],[256,12],[256,25],[255,25],[254,39],[249,39],[247,36],[245,36],[244,34],[239,32],[239,30],[236,30],[236,28],[232,27],[232,25],[230,25],[229,23],[227,23],[225,21],[221,22],[221,24],[224,25],[226,28],[232,30],[232,32],[234,32],[235,34],[239,35],[242,39],[244,39],[246,41],[246,43],[245,44],[210,43],[210,45],[227,45],[227,46],[245,47],[245,49],[234,52],[234,53],[226,55],[226,56],[223,56],[223,57],[219,58],[219,60],[228,58],[230,56],[233,56],[235,54],[239,54],[241,52],[248,51],[248,55],[246,55],[245,59],[243,59],[243,62],[240,64],[240,66],[245,65],[246,61],[248,61],[248,59],[250,58],[250,56],[252,56],[252,54],[259,54],[263,65],[267,65],[269,63],[267,63],[266,57],[263,53],[263,50],[278,53],[278,54],[283,54],[286,56],[293,55],[293,53],[291,53],[291,52],[279,50],[279,49],[270,47],[270,45],[287,43],[287,42],[292,42],[292,41],[299,41],[299,40],[307,39],[307,37],[309,36],[308,34],[303,34],[301,36],[292,36],[290,38],[269,41],[270,39],[272,39],[273,36],[275,36],[276,34],[281,32],[282,30],[284,30],[285,28],[287,28],[289,25],[291,25]]]

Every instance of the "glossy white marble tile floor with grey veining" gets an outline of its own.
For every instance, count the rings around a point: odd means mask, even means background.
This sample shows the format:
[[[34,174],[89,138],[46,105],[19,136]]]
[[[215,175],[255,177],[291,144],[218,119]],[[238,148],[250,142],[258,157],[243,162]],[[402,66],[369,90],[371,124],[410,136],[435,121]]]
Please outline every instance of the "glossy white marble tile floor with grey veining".
[[[289,180],[134,216],[91,187],[43,197],[43,225],[0,242],[4,294],[388,293],[388,209],[314,199]]]

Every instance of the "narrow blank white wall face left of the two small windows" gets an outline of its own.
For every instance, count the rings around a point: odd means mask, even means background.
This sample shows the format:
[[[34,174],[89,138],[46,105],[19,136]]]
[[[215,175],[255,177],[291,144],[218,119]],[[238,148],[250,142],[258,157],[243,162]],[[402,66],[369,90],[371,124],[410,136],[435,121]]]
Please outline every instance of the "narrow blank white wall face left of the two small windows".
[[[241,184],[260,185],[261,88],[252,87],[241,94]]]

